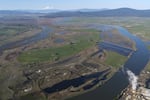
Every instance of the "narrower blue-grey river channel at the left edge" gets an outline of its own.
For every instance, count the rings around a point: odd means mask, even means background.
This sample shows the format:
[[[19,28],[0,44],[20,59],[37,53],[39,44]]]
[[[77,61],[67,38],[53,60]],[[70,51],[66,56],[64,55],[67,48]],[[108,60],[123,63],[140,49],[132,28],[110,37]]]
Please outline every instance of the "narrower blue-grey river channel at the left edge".
[[[31,43],[43,40],[43,39],[45,39],[49,36],[50,32],[52,32],[52,29],[50,29],[49,27],[43,26],[42,31],[39,32],[38,34],[32,36],[32,37],[25,38],[23,40],[11,42],[11,43],[7,43],[7,44],[4,44],[4,45],[0,46],[0,54],[4,50],[7,50],[7,49],[16,48],[16,47],[19,47],[19,46],[23,46],[23,45],[27,45],[27,44],[31,44]]]

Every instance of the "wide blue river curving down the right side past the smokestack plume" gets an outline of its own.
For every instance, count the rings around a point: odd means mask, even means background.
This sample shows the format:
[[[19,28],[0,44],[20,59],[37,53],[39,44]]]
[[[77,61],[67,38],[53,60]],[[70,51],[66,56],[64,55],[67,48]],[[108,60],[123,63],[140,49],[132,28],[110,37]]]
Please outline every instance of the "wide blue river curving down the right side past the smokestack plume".
[[[105,26],[105,30],[112,27],[118,29],[120,34],[133,40],[136,43],[137,50],[132,53],[128,61],[124,64],[124,68],[115,73],[104,85],[69,100],[113,100],[129,84],[126,70],[129,69],[136,75],[139,75],[141,70],[148,63],[149,51],[144,42],[140,38],[129,33],[126,29],[119,26]],[[100,29],[100,27],[96,27],[96,29]]]

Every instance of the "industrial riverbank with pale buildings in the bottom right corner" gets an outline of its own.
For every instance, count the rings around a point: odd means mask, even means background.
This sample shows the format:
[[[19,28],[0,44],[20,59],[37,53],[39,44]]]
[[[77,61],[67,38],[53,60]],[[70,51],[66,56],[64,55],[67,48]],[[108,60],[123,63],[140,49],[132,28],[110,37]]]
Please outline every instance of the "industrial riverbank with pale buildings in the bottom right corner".
[[[149,79],[150,79],[150,63],[144,68],[144,70],[140,73],[137,80],[136,90],[132,89],[132,85],[130,84],[124,91],[122,91],[119,96],[119,100],[150,100],[150,87],[149,87]]]

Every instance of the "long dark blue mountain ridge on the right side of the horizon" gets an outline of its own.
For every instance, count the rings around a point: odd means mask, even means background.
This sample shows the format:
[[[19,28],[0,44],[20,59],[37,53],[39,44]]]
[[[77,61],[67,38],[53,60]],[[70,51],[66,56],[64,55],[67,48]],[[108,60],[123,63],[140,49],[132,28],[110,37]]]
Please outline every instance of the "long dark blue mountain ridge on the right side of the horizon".
[[[136,10],[130,8],[106,9],[100,11],[62,11],[47,14],[44,17],[150,17],[150,10]]]

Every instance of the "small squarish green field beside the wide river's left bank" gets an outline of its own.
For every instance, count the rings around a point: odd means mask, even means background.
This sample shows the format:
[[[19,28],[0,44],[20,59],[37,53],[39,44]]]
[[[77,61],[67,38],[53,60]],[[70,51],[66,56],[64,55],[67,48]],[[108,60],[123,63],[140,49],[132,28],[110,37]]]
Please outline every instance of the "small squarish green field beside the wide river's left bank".
[[[127,60],[126,56],[120,55],[112,51],[106,51],[106,56],[107,58],[104,63],[115,68],[120,68]]]

